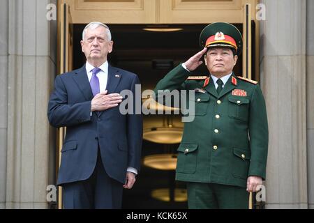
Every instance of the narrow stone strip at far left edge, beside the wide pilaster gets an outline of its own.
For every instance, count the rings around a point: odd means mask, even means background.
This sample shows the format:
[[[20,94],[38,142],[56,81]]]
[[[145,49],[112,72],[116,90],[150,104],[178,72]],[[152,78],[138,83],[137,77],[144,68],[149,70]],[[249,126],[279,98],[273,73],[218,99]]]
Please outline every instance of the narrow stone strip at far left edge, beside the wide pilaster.
[[[0,209],[6,207],[6,137],[8,133],[8,0],[0,2]]]

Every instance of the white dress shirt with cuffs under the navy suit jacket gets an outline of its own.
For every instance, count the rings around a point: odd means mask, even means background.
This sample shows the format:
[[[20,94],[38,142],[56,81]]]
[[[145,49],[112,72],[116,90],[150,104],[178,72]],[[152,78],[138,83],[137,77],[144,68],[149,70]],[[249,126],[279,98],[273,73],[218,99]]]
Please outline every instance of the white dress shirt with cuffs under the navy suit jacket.
[[[105,61],[105,63],[103,63],[102,65],[99,66],[99,68],[101,69],[98,74],[96,75],[99,79],[99,90],[100,93],[104,92],[106,90],[107,87],[107,81],[108,81],[108,61]],[[92,66],[89,62],[86,62],[86,72],[87,72],[87,77],[89,78],[89,82],[91,82],[91,76],[93,75],[93,73],[91,72],[91,70],[93,70],[95,67]],[[91,113],[92,115],[92,113]],[[132,172],[133,174],[137,175],[137,169],[133,168],[133,167],[128,167],[128,169],[126,169],[126,171],[128,172]]]

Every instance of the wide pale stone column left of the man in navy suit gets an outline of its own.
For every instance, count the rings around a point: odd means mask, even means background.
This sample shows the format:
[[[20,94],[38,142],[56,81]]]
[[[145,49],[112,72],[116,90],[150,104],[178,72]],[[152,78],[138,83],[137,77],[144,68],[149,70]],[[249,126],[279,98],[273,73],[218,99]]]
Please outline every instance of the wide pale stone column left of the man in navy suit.
[[[52,135],[47,101],[57,49],[56,29],[51,29],[56,21],[46,19],[48,3],[8,1],[6,208],[47,208]]]

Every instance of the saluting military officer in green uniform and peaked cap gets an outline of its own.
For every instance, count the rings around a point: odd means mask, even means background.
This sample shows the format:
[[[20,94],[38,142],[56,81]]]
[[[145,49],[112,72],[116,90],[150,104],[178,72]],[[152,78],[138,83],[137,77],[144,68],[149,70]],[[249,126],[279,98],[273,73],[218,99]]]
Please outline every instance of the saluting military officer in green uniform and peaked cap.
[[[242,45],[235,26],[209,24],[200,45],[202,51],[171,70],[155,89],[156,100],[161,90],[195,91],[187,100],[195,105],[195,118],[184,123],[176,180],[187,183],[188,208],[248,208],[249,192],[266,177],[264,97],[257,82],[232,71]],[[203,57],[208,77],[195,77]]]

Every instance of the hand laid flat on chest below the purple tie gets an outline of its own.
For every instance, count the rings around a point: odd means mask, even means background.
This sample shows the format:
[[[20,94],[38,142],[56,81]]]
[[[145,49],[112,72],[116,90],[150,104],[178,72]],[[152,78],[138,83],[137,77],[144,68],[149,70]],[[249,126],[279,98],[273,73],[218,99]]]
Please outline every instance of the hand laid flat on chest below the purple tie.
[[[91,112],[100,112],[112,107],[117,107],[122,102],[122,97],[119,93],[110,93],[107,95],[107,90],[103,93],[95,95],[91,100]]]

